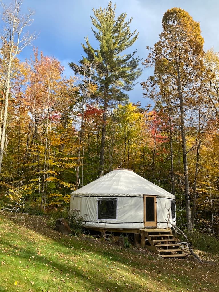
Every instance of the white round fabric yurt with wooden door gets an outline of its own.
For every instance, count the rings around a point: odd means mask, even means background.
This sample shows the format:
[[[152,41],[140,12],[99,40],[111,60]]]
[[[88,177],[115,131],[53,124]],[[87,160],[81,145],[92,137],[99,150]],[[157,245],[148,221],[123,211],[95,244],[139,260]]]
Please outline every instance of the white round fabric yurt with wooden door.
[[[71,193],[86,228],[138,232],[175,225],[175,196],[128,169],[117,168]],[[171,227],[168,225],[168,227]]]

